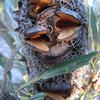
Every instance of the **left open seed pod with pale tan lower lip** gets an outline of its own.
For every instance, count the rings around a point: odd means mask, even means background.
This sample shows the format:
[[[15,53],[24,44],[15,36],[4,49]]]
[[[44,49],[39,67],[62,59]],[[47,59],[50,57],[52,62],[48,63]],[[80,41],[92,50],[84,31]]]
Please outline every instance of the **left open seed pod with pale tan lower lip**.
[[[49,51],[47,45],[49,38],[47,34],[48,31],[46,28],[36,25],[26,31],[25,40],[28,44],[36,48],[37,51]]]

